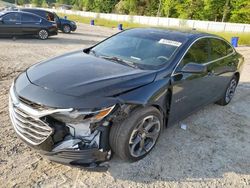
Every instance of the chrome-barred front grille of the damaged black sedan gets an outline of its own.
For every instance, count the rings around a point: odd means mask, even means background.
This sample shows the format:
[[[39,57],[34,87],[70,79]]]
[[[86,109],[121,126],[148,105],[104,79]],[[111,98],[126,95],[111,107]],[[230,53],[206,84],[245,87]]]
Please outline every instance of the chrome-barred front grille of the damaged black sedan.
[[[19,103],[20,104],[20,103]],[[32,145],[39,145],[53,132],[53,129],[38,117],[15,105],[10,99],[10,117],[15,131]]]

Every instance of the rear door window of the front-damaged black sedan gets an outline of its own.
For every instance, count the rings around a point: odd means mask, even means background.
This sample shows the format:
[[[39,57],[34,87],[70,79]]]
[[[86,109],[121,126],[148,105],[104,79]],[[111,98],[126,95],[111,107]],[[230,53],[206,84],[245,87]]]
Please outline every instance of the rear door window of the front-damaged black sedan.
[[[220,39],[210,39],[211,43],[211,60],[219,59],[226,56],[227,45],[224,41]]]

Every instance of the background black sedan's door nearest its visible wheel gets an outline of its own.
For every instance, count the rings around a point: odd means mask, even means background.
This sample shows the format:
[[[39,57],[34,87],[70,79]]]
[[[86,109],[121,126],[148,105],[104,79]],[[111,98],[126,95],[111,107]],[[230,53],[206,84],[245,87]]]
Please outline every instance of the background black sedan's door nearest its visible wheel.
[[[36,35],[41,28],[41,18],[39,16],[22,13],[21,21],[23,34]]]

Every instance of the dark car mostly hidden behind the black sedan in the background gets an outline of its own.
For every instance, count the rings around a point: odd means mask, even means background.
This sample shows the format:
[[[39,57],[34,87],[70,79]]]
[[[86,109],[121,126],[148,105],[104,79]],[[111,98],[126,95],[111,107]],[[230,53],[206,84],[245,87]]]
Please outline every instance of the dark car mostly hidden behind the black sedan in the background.
[[[34,9],[34,8],[33,9],[21,8],[20,10],[37,14],[49,21],[55,21],[57,23],[58,29],[64,33],[70,33],[71,31],[75,31],[77,28],[76,23],[74,21],[60,18],[54,12],[50,12],[50,11],[43,10],[43,9]]]

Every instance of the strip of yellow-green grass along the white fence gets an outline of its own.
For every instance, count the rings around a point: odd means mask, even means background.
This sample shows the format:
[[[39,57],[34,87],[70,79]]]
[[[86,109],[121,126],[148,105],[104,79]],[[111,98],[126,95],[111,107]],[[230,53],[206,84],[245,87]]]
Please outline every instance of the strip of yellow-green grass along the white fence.
[[[61,17],[65,16],[65,14],[61,14],[61,13],[58,13],[58,15]],[[134,27],[152,27],[149,25],[142,25],[142,24],[132,23],[132,22],[118,22],[118,21],[106,20],[106,19],[101,19],[101,18],[82,17],[78,15],[66,15],[66,16],[70,20],[74,20],[76,22],[85,23],[85,24],[90,24],[90,21],[94,19],[95,25],[110,27],[110,28],[115,28],[120,23],[122,23],[124,29],[134,28]],[[211,31],[205,31],[205,32],[219,35],[225,38],[226,40],[228,40],[229,42],[231,42],[232,37],[239,37],[239,45],[250,45],[250,33],[211,32]]]

